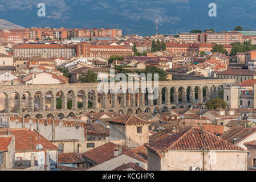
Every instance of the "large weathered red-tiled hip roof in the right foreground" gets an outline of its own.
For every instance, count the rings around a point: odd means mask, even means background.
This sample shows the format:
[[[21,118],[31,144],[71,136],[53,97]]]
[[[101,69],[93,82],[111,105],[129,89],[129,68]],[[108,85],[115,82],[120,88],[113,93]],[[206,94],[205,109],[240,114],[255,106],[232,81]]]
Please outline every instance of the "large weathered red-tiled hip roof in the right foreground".
[[[205,142],[204,141],[205,136]],[[170,135],[168,137],[155,140],[153,142],[145,144],[149,150],[156,152],[160,155],[160,152],[168,150],[235,150],[244,151],[243,148],[233,146],[229,142],[218,138],[216,135],[203,131],[200,127],[192,127]]]

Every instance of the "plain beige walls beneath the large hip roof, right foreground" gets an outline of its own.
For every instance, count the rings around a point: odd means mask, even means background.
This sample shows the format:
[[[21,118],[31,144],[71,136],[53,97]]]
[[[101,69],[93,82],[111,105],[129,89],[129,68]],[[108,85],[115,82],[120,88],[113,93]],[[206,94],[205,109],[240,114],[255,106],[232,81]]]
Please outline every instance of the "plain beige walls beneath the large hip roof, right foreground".
[[[159,167],[159,160],[161,167]],[[159,158],[156,154],[148,157],[148,170],[190,171],[191,167],[202,169],[202,151],[169,151],[164,154],[163,158]],[[247,152],[206,151],[204,153],[204,170],[245,171],[247,170]]]

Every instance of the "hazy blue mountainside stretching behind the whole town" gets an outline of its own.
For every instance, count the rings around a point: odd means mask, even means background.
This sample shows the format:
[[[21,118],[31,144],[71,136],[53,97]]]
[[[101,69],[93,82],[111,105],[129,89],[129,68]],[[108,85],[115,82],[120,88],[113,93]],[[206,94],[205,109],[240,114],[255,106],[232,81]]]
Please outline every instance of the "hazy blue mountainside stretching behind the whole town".
[[[38,3],[46,17],[37,15]],[[217,17],[210,17],[209,3]],[[23,27],[122,28],[123,34],[176,34],[193,29],[233,30],[237,25],[256,28],[253,0],[0,0],[0,18]]]

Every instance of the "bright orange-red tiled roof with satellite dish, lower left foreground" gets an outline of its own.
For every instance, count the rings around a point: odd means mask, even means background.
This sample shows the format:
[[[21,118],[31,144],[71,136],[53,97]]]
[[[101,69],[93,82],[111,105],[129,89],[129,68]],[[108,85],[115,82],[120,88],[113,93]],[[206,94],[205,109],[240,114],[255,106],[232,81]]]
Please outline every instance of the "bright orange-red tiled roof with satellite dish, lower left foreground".
[[[36,150],[37,144],[42,144],[44,150],[58,149],[42,135],[35,130],[29,129],[11,129],[10,133],[15,136],[15,151],[32,151]],[[31,140],[30,140],[31,137]],[[31,142],[31,143],[30,143]],[[31,146],[32,144],[32,146]]]

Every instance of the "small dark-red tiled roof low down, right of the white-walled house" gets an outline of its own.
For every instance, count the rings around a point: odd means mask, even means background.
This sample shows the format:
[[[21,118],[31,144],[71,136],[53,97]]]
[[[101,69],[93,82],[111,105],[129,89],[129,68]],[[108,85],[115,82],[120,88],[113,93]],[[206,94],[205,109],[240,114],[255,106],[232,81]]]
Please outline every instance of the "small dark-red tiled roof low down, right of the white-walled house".
[[[58,164],[77,164],[84,163],[82,154],[79,153],[65,153],[58,154]]]

